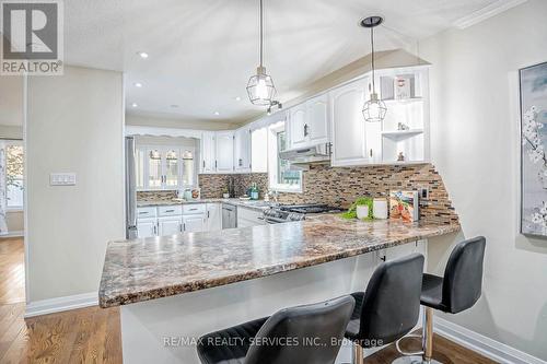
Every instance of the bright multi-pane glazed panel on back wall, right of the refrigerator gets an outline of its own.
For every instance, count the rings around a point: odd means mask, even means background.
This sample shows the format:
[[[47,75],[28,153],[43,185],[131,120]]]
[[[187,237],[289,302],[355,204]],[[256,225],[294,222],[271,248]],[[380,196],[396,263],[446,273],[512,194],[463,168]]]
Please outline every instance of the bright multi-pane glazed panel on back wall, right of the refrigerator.
[[[146,146],[136,150],[137,189],[178,189],[195,184],[194,148]]]

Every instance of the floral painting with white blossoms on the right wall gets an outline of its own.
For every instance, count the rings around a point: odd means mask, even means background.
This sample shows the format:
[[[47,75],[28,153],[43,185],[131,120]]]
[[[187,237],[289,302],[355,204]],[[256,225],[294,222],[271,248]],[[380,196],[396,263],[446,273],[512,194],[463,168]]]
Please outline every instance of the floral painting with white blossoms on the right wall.
[[[547,62],[521,75],[521,233],[547,237]]]

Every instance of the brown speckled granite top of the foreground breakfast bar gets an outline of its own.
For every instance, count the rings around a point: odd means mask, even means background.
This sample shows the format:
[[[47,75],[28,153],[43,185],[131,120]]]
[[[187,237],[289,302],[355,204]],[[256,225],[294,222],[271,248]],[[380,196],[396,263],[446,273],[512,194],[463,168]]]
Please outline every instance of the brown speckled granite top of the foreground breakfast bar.
[[[205,290],[459,231],[459,225],[347,221],[333,214],[275,225],[110,242],[101,307]]]

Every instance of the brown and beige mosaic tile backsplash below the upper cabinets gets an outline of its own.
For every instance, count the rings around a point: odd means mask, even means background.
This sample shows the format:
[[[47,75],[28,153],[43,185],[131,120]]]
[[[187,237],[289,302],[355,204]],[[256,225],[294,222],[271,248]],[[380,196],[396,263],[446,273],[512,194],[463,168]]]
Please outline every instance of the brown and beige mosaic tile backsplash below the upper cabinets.
[[[234,178],[236,193],[244,193],[253,183],[267,190],[267,174],[199,175],[202,198],[220,198],[230,178]],[[362,167],[330,167],[312,165],[304,172],[303,193],[280,193],[282,203],[328,203],[348,208],[358,197],[386,197],[389,190],[428,188],[429,198],[420,201],[420,219],[439,223],[458,223],[458,216],[449,199],[442,177],[432,164],[382,165]]]

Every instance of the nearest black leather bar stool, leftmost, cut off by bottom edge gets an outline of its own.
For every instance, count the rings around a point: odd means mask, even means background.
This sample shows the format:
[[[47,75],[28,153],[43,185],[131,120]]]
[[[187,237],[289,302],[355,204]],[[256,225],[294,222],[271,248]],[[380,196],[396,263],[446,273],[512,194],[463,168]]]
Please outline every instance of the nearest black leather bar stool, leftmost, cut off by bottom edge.
[[[203,364],[333,364],[354,304],[344,296],[208,333],[198,342],[199,359]]]

